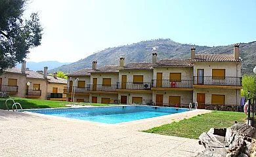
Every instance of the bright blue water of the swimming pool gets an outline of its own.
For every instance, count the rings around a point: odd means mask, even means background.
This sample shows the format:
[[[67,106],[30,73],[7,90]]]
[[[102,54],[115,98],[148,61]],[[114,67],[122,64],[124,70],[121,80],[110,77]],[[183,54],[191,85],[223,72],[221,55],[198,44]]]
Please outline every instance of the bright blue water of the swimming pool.
[[[188,109],[150,106],[115,106],[115,107],[83,107],[70,109],[36,109],[26,110],[32,113],[49,114],[79,120],[89,120],[107,124],[129,122],[167,114],[182,113]]]

